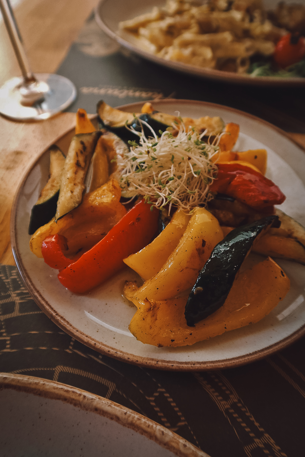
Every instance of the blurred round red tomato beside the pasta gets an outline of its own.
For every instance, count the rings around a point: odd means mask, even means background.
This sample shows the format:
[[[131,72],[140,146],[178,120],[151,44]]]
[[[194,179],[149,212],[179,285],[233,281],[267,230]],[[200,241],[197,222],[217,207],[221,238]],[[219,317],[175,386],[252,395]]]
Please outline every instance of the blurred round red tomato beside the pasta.
[[[299,33],[289,33],[282,37],[274,50],[273,60],[281,68],[300,62],[305,57],[305,39]]]

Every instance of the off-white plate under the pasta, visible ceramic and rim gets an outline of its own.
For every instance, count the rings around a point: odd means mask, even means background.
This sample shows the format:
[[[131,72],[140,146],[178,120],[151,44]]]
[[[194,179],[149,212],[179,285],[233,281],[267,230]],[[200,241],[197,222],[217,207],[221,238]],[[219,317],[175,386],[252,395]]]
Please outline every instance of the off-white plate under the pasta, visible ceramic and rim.
[[[265,0],[264,5],[272,9],[277,0]],[[295,0],[286,0],[285,3],[295,3]],[[301,2],[302,3],[302,2]],[[278,86],[305,86],[305,78],[277,78],[267,76],[250,76],[247,74],[229,73],[226,71],[205,69],[193,65],[173,62],[155,56],[141,46],[140,41],[130,33],[119,30],[119,22],[133,19],[140,14],[148,13],[153,6],[164,6],[165,0],[101,0],[96,6],[95,17],[98,25],[121,46],[129,49],[156,64],[194,76],[213,80],[250,85],[278,85]]]

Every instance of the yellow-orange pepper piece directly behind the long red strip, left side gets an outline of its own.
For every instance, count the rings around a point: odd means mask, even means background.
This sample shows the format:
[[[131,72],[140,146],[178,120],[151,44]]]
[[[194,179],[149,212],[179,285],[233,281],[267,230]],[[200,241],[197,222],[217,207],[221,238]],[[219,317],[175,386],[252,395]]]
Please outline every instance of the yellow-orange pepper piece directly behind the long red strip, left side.
[[[86,194],[82,203],[63,218],[57,222],[53,218],[38,228],[30,240],[30,249],[37,257],[43,257],[43,240],[57,233],[67,239],[69,257],[90,249],[126,214],[120,197],[118,182],[113,179],[108,181],[96,191]]]

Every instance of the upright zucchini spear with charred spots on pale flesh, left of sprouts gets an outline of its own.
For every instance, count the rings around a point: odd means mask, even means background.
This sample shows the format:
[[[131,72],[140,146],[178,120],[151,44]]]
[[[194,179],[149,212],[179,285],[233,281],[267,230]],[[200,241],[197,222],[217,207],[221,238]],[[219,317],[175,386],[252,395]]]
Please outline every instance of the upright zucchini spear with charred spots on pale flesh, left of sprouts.
[[[77,207],[85,190],[85,178],[101,132],[80,133],[72,138],[60,180],[55,220]]]

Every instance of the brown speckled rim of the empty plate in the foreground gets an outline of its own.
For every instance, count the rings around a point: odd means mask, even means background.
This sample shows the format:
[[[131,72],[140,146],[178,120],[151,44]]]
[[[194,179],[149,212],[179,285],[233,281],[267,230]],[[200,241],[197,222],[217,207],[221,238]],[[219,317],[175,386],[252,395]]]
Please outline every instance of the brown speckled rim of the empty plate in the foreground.
[[[11,389],[49,400],[59,400],[83,411],[98,414],[154,441],[178,457],[209,457],[182,436],[143,414],[95,393],[50,379],[0,372],[0,390]]]

